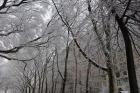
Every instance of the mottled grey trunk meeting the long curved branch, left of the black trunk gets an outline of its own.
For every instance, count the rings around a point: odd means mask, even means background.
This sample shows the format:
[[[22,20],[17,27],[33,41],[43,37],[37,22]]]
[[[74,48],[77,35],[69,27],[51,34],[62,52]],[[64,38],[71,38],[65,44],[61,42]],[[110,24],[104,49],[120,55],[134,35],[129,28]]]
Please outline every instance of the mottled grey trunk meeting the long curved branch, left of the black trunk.
[[[106,58],[106,64],[108,68],[108,83],[109,83],[109,93],[114,93],[114,76],[113,76],[113,66],[112,66],[112,60],[111,60],[111,31],[110,31],[110,24],[109,24],[110,18],[107,16],[103,19],[103,28],[106,35],[106,51],[104,50],[104,55]],[[103,46],[102,46],[103,47]]]

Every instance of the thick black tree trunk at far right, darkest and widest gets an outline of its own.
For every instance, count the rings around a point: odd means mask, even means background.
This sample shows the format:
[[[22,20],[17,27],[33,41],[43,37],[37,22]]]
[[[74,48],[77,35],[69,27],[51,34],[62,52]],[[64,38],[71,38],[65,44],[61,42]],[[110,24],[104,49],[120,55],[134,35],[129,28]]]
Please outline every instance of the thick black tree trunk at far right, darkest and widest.
[[[125,43],[130,93],[139,93],[129,31],[125,26],[123,19],[120,18],[117,14],[115,15],[115,19],[118,23],[118,26],[120,27]]]

